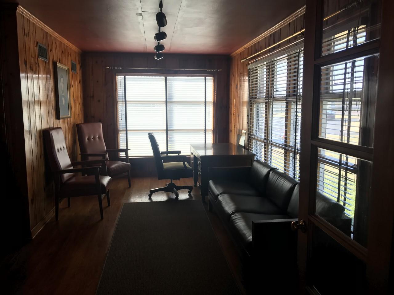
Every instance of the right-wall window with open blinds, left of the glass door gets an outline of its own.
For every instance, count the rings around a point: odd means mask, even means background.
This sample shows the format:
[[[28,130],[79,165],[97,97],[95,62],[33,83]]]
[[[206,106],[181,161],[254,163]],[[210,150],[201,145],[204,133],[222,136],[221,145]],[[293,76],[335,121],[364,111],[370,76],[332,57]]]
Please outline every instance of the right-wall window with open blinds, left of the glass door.
[[[299,178],[303,50],[249,69],[247,147],[286,174]]]

